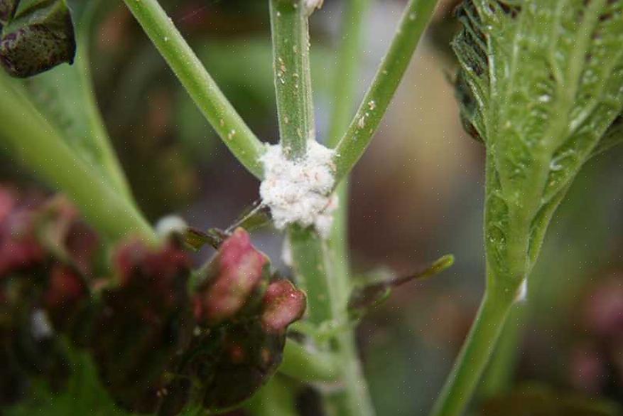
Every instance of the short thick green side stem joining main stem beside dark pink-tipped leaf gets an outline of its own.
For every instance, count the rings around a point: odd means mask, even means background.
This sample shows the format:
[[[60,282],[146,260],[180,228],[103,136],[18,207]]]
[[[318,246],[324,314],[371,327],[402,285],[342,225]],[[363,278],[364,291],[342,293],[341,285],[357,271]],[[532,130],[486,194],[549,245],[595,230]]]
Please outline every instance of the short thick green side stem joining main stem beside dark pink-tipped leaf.
[[[308,351],[296,341],[286,341],[279,373],[306,382],[334,382],[339,379],[337,357],[325,351]]]

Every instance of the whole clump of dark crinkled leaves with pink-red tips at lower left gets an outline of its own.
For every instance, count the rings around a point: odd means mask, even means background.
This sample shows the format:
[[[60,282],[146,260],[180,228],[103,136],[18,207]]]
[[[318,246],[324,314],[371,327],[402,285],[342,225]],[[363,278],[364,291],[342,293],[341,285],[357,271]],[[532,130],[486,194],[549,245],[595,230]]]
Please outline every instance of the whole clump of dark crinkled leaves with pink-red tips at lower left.
[[[126,410],[177,415],[191,401],[217,410],[249,398],[281,362],[305,294],[272,279],[242,228],[195,274],[181,246],[129,240],[107,267],[67,201],[0,188],[0,404],[26,398],[34,378],[63,391],[73,348]]]

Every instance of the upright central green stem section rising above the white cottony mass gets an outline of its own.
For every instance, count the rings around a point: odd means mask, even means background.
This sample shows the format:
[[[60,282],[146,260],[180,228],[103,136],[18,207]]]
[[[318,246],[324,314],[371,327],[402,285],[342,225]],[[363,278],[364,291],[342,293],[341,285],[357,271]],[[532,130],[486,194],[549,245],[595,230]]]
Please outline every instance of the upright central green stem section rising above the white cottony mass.
[[[315,139],[308,15],[300,0],[271,0],[270,6],[279,137],[283,154],[298,159]]]

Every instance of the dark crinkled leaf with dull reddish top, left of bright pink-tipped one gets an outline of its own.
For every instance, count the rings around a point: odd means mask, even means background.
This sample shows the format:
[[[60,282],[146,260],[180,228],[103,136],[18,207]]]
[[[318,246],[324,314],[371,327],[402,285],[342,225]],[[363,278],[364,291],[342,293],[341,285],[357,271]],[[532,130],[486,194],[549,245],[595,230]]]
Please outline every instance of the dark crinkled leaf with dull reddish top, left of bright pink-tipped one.
[[[89,348],[112,398],[129,410],[153,412],[165,371],[193,329],[189,260],[172,245],[133,242],[119,248],[115,266],[119,284],[102,293]]]

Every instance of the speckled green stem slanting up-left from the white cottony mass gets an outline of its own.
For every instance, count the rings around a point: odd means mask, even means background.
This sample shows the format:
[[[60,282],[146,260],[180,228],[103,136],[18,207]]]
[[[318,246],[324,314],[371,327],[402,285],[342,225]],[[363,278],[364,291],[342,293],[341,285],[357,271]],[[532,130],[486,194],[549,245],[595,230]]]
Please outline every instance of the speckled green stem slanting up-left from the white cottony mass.
[[[224,144],[251,174],[261,178],[263,144],[223,95],[157,0],[124,0],[147,36]]]

